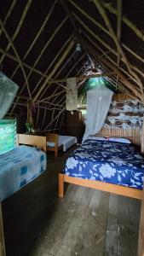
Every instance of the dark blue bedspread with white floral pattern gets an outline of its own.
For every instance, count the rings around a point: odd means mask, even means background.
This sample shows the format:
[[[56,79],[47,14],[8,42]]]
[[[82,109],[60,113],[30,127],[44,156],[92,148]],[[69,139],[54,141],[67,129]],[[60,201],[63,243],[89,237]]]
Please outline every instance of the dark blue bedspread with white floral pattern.
[[[132,144],[86,140],[66,160],[71,177],[143,188],[144,158]]]

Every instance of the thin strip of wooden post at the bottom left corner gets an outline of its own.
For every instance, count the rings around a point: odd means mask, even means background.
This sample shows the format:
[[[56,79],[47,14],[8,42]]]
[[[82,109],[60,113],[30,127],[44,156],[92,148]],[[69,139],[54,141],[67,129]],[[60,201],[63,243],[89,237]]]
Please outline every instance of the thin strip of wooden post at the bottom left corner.
[[[2,203],[1,202],[0,202],[0,255],[6,256],[4,234],[3,234],[3,213],[2,213]]]

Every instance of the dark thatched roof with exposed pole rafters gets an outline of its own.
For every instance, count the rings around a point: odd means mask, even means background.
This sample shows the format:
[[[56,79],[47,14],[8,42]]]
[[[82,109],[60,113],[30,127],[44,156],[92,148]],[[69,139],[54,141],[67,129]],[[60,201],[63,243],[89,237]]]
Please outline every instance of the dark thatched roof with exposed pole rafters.
[[[20,86],[9,114],[26,112],[29,98],[48,128],[47,111],[65,109],[66,78],[98,72],[143,102],[143,10],[142,0],[2,0],[0,67]]]

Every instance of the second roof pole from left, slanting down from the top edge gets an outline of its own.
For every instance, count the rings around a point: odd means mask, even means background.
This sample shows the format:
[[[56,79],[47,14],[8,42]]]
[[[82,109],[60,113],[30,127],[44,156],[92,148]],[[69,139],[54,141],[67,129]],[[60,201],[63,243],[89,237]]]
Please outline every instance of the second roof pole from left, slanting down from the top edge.
[[[25,59],[26,59],[26,56],[29,55],[29,53],[30,53],[30,51],[32,50],[34,44],[37,42],[37,39],[39,38],[39,36],[40,36],[41,33],[43,32],[44,26],[46,26],[46,24],[48,23],[48,20],[49,20],[51,14],[52,14],[52,12],[53,12],[53,10],[54,10],[54,8],[55,8],[55,4],[57,3],[57,1],[58,1],[58,0],[55,0],[55,2],[52,4],[51,9],[49,10],[48,15],[45,17],[42,26],[40,27],[40,29],[39,29],[38,32],[37,32],[36,37],[35,37],[35,38],[33,39],[33,41],[32,41],[32,44],[31,44],[30,47],[27,49],[26,54],[25,54],[24,57],[23,57],[23,60],[25,60]],[[15,68],[14,73],[13,73],[12,76],[11,76],[11,79],[13,79],[14,74],[17,72],[17,70],[19,69],[19,67],[20,67],[20,65],[18,65],[18,66]]]

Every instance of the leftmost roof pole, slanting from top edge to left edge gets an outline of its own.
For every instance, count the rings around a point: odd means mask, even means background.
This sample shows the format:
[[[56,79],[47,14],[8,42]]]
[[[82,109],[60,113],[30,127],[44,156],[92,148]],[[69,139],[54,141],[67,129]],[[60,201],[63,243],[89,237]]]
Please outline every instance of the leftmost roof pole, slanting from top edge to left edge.
[[[27,0],[25,9],[24,9],[24,11],[23,11],[23,13],[21,15],[21,18],[20,18],[20,22],[19,22],[16,30],[14,31],[13,37],[11,38],[11,42],[14,42],[14,39],[17,37],[18,33],[20,32],[20,28],[21,28],[21,26],[22,26],[22,24],[23,24],[23,22],[24,22],[24,20],[26,18],[26,14],[28,12],[28,9],[31,6],[31,3],[32,3],[32,0]],[[11,46],[11,43],[9,42],[9,44],[6,47],[6,51],[9,51],[10,46]],[[4,59],[4,55],[2,55],[2,57],[0,59],[0,65],[3,62],[3,59]]]

